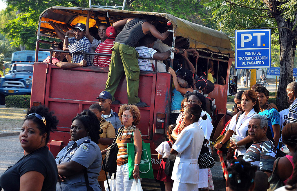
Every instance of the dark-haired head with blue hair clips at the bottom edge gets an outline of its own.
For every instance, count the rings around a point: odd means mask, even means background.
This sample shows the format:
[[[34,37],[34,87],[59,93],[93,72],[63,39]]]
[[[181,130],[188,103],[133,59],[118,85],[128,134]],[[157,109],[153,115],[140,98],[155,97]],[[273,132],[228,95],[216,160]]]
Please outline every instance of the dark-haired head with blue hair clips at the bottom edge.
[[[252,191],[255,187],[257,166],[243,159],[233,160],[227,168],[226,191]]]

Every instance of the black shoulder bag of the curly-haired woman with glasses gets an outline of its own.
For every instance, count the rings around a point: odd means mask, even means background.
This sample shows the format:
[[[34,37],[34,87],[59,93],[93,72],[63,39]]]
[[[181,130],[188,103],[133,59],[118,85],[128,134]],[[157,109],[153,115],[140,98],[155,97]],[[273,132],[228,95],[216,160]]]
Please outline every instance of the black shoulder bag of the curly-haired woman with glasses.
[[[104,166],[102,166],[102,170],[105,172],[108,172],[109,174],[116,173],[116,159],[119,152],[119,147],[116,143],[116,139],[118,135],[123,131],[124,128],[122,128],[118,134],[116,134],[116,138],[113,140],[112,145],[110,148],[106,151],[105,159],[103,160],[103,163],[105,163]]]

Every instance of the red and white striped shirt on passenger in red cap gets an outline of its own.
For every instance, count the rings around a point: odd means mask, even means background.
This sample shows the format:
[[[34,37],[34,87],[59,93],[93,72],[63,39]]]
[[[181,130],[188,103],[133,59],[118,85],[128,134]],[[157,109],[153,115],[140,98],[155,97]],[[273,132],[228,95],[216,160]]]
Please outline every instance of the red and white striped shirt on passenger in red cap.
[[[102,54],[111,54],[113,47],[114,39],[106,39],[104,42],[100,43],[95,50],[95,53]],[[109,67],[110,65],[110,56],[94,56],[93,65],[98,67]]]

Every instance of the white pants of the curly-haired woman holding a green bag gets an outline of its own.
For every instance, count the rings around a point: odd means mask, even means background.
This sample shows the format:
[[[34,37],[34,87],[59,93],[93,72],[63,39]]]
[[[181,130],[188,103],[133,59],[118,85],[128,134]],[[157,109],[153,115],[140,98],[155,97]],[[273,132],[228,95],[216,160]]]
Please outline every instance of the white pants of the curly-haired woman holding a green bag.
[[[129,165],[124,164],[116,168],[116,191],[130,191],[133,180],[129,180]]]

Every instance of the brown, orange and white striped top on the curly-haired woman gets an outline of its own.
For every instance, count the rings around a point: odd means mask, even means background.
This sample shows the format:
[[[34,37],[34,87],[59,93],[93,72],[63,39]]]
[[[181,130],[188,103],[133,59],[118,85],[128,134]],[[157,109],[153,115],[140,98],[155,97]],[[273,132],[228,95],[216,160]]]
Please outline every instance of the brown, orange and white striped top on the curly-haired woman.
[[[121,134],[116,139],[116,143],[119,147],[119,152],[117,155],[116,164],[121,166],[128,163],[128,151],[127,143],[131,143],[132,133],[138,129],[136,126],[132,125],[128,127],[127,131],[122,131]]]

